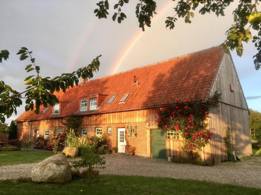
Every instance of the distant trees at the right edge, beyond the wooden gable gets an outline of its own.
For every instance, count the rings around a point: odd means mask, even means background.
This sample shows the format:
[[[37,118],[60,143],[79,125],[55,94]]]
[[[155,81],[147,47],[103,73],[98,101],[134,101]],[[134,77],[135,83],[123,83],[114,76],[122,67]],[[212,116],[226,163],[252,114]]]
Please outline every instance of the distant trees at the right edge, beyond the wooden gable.
[[[249,111],[249,125],[251,129],[251,138],[256,139],[256,135],[261,135],[261,113],[251,108],[249,109]]]

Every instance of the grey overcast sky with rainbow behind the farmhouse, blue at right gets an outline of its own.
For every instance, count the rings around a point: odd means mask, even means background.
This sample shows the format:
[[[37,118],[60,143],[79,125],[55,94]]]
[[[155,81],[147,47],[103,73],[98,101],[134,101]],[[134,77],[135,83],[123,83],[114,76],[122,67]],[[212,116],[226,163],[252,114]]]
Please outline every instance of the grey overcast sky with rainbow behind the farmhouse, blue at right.
[[[0,0],[0,50],[10,52],[9,59],[0,64],[0,79],[19,92],[25,89],[23,80],[29,73],[24,68],[30,61],[19,61],[15,54],[20,47],[33,51],[43,77],[72,72],[101,54],[100,71],[94,78],[210,48],[226,39],[225,32],[233,23],[232,11],[237,7],[235,1],[224,17],[194,11],[191,24],[179,18],[174,30],[166,30],[165,18],[174,15],[177,2],[157,0],[158,14],[154,15],[152,27],[142,32],[135,15],[138,1],[123,6],[127,19],[121,24],[111,19],[116,1],[109,1],[110,15],[100,20],[93,13],[97,2]],[[257,51],[251,41],[244,44],[244,49],[241,58],[235,51],[232,57],[248,107],[261,112],[261,70],[254,69],[252,59]],[[17,116],[24,106],[18,108]],[[13,115],[7,122],[15,118]]]

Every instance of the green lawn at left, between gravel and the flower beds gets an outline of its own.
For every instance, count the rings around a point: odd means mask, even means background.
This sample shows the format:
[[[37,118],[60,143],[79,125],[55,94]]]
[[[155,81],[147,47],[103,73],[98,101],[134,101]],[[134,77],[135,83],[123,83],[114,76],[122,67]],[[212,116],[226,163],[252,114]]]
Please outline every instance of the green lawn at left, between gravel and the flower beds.
[[[52,155],[54,152],[35,150],[0,152],[0,166],[40,162]]]

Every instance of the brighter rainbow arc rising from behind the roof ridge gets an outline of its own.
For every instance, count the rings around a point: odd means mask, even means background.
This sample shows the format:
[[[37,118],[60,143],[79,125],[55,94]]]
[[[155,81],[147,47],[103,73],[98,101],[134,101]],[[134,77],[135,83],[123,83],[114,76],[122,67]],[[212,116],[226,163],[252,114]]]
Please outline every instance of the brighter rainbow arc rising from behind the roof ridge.
[[[157,20],[157,18],[159,18],[160,15],[162,15],[165,11],[168,10],[168,8],[170,8],[170,5],[173,4],[174,2],[170,2],[167,5],[163,6],[163,8],[158,11],[158,14],[154,15],[155,17],[153,17],[151,19],[151,24],[153,22],[155,22]],[[145,30],[148,29],[149,27],[145,26]],[[118,59],[116,60],[115,66],[112,68],[111,74],[115,74],[117,73],[118,68],[120,67],[122,61],[125,59],[125,57],[128,55],[129,51],[133,48],[133,46],[135,45],[135,43],[137,43],[137,41],[139,40],[139,38],[144,34],[144,32],[139,29],[139,31],[133,36],[133,38],[131,39],[131,41],[129,41],[129,43],[127,44],[127,46],[125,47],[125,49],[123,49],[123,52],[121,53],[121,55],[118,57]]]

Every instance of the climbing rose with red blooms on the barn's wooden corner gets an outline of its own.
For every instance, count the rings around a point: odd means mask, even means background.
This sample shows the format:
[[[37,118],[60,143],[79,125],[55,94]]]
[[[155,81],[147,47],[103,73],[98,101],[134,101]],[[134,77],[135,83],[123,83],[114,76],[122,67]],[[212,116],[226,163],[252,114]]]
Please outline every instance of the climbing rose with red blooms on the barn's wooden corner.
[[[207,102],[192,102],[187,99],[182,103],[176,100],[173,105],[157,110],[158,127],[180,133],[183,138],[181,149],[187,154],[190,162],[199,157],[202,147],[208,144],[214,134],[207,129],[206,119],[209,118],[209,110],[218,107],[220,98],[221,94],[215,92]]]

